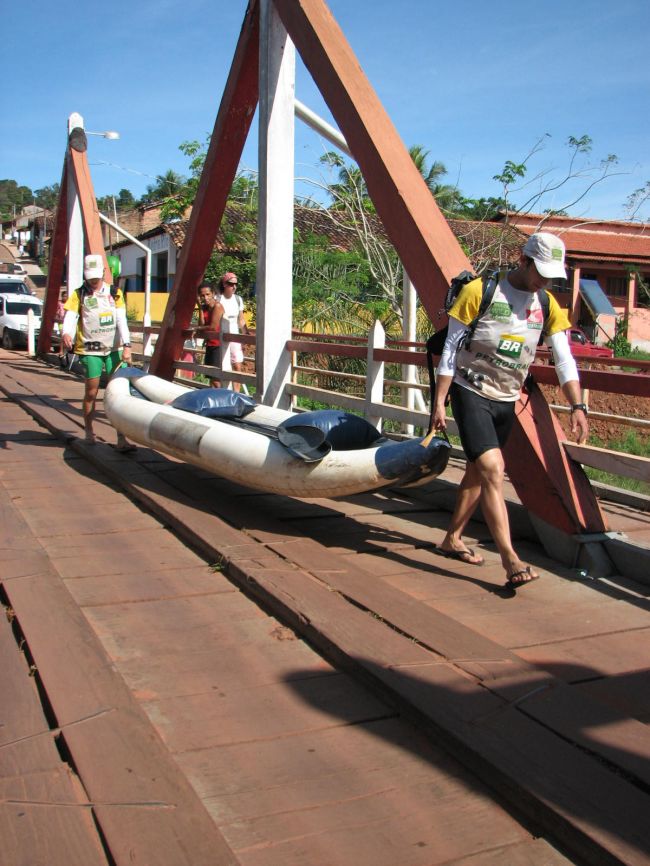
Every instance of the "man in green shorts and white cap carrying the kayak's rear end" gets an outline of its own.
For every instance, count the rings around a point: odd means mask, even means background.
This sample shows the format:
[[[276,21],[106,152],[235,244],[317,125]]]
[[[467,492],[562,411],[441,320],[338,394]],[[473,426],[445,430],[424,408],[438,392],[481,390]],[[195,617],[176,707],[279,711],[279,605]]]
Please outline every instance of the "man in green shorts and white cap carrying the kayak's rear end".
[[[119,289],[104,282],[104,257],[88,255],[84,259],[84,283],[76,289],[65,305],[63,344],[79,356],[86,374],[83,400],[85,439],[95,444],[93,417],[102,372],[111,375],[131,360],[131,337],[126,319],[124,298]],[[119,347],[122,347],[120,351]],[[134,451],[135,445],[117,436],[119,451]]]

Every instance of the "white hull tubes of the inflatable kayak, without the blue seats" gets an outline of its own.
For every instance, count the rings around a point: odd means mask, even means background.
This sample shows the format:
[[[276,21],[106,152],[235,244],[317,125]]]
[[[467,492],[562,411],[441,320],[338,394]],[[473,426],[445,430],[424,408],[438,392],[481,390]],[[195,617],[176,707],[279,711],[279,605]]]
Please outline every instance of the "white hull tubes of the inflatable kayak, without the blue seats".
[[[133,396],[131,385],[146,399]],[[156,376],[113,378],[104,396],[111,424],[147,445],[223,478],[287,496],[335,498],[434,478],[447,464],[447,442],[379,440],[369,448],[330,451],[305,463],[267,435],[165,405],[192,389]],[[246,422],[277,426],[293,413],[258,405]]]

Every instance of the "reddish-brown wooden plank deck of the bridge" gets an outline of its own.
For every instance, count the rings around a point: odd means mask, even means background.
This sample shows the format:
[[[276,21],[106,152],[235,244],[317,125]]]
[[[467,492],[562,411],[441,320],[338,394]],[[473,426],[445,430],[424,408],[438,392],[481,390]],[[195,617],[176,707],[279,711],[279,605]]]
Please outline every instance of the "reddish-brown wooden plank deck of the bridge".
[[[528,543],[514,596],[435,490],[257,494],[0,389],[3,866],[650,862],[648,585]]]

